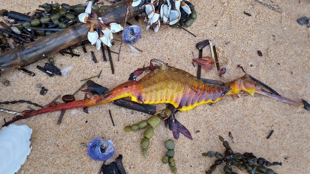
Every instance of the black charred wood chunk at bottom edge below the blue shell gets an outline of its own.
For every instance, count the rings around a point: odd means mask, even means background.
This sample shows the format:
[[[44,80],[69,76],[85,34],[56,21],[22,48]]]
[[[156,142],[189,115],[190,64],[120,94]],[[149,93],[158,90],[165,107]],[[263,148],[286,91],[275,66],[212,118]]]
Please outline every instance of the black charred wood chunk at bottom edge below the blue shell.
[[[102,164],[101,172],[103,174],[126,174],[122,163],[123,156],[121,154],[110,164]]]

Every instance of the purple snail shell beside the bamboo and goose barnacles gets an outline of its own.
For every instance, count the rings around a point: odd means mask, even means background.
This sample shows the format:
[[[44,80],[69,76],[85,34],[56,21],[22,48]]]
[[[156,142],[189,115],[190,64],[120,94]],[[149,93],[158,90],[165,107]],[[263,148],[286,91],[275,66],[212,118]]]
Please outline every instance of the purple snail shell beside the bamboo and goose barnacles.
[[[137,25],[125,27],[123,41],[129,44],[136,43],[141,37],[141,28]]]

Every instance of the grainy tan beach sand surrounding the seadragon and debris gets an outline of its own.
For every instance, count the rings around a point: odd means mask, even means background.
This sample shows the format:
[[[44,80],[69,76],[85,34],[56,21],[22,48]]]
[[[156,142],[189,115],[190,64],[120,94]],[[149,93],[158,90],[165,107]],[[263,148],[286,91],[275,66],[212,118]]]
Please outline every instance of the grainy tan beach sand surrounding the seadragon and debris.
[[[7,10],[28,12],[35,10],[39,4],[46,1],[0,2],[0,7]],[[220,67],[226,67],[226,80],[232,80],[243,75],[240,64],[251,76],[261,80],[275,89],[284,97],[310,101],[310,29],[300,26],[296,20],[303,16],[309,17],[310,3],[306,0],[273,1],[282,13],[273,11],[263,4],[252,1],[238,0],[193,0],[197,11],[197,20],[187,29],[197,37],[184,30],[162,25],[158,33],[151,30],[142,31],[142,37],[135,44],[143,50],[138,54],[131,52],[127,46],[122,47],[121,60],[117,54],[112,54],[115,74],[111,74],[109,62],[102,60],[101,51],[95,51],[99,63],[91,59],[90,50],[95,46],[87,45],[87,55],[79,47],[80,57],[57,53],[54,57],[57,67],[74,65],[68,76],[49,77],[36,68],[44,66],[47,59],[40,60],[27,69],[36,73],[28,76],[18,70],[1,75],[0,80],[10,81],[10,86],[0,83],[1,101],[29,100],[41,105],[52,101],[57,95],[73,94],[82,84],[81,79],[97,75],[92,79],[105,87],[113,87],[128,79],[128,76],[138,67],[148,66],[150,59],[161,59],[169,65],[178,67],[196,75],[197,67],[191,61],[198,57],[197,42],[210,39],[217,47]],[[58,3],[82,3],[73,0],[58,1]],[[107,3],[105,3],[107,4]],[[244,11],[252,16],[247,16]],[[137,22],[130,20],[132,24]],[[145,28],[143,20],[141,28]],[[114,34],[120,39],[121,34]],[[119,42],[111,48],[119,49]],[[257,54],[260,50],[263,54]],[[210,56],[210,48],[206,47],[203,56]],[[202,72],[203,78],[224,80],[216,74],[216,67],[211,72]],[[39,94],[37,83],[48,89],[46,95]],[[84,94],[75,96],[82,99]],[[58,100],[59,102],[60,99]],[[26,110],[27,104],[2,105],[11,110]],[[31,106],[32,107],[32,106]],[[160,111],[165,105],[157,105]],[[33,107],[38,109],[37,107]],[[115,127],[113,127],[108,110],[111,110]],[[20,120],[15,124],[26,124],[33,129],[31,137],[31,153],[20,168],[22,173],[87,173],[97,174],[102,162],[91,160],[86,152],[88,141],[95,136],[111,139],[116,145],[115,159],[123,155],[123,165],[128,174],[170,173],[167,164],[161,162],[166,152],[163,142],[173,138],[172,132],[162,123],[155,130],[154,137],[148,149],[148,157],[143,158],[140,150],[142,130],[124,132],[126,125],[139,122],[149,117],[144,113],[117,107],[111,103],[89,108],[89,114],[82,109],[76,109],[72,114],[66,111],[62,123],[57,125],[60,111],[46,113],[29,119]],[[10,120],[13,115],[1,114],[0,120]],[[270,167],[277,173],[307,173],[310,170],[310,121],[309,111],[290,106],[265,96],[255,94],[254,97],[241,93],[239,98],[229,96],[209,105],[201,105],[187,112],[177,113],[177,119],[192,133],[193,140],[180,135],[175,141],[175,161],[179,174],[205,173],[215,159],[202,157],[201,153],[215,150],[224,153],[224,147],[218,136],[223,136],[230,143],[234,152],[253,152],[257,157],[263,157],[271,162],[282,162],[282,166]],[[87,123],[86,123],[87,122]],[[199,130],[199,133],[195,131]],[[274,130],[270,139],[266,137]],[[232,132],[233,141],[228,137]],[[107,163],[111,162],[108,160]],[[222,173],[222,164],[214,173]],[[220,169],[220,170],[219,170]],[[297,170],[297,171],[295,171]],[[235,172],[240,172],[235,169]]]

